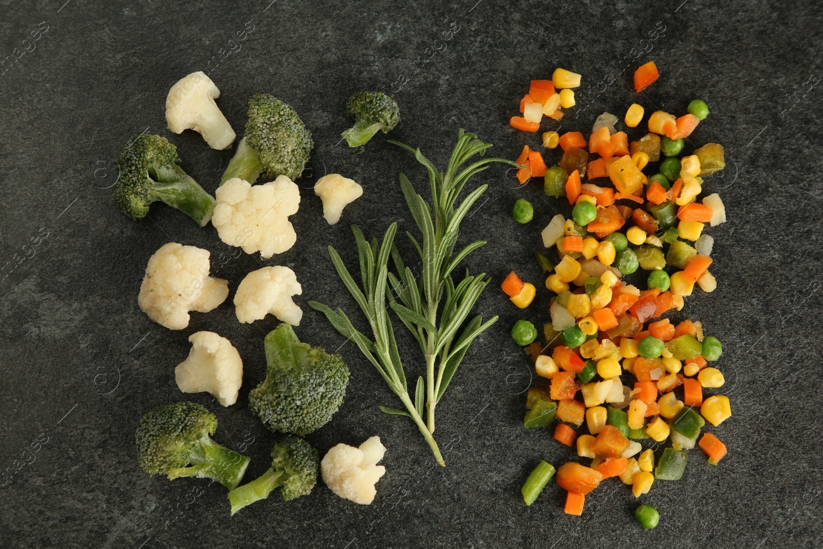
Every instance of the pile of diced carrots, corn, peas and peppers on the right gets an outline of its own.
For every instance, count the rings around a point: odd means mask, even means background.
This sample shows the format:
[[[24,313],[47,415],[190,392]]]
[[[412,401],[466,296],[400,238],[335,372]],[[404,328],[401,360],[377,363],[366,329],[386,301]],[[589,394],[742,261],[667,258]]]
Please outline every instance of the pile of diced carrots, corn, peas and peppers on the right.
[[[657,79],[658,68],[646,63],[635,72],[635,91]],[[523,116],[510,125],[536,133],[544,115],[561,119],[561,109],[574,106],[572,88],[580,81],[564,69],[551,81],[532,81],[520,103]],[[732,415],[728,397],[714,394],[724,383],[714,367],[722,346],[704,336],[700,322],[667,318],[684,308],[695,284],[704,292],[717,287],[709,272],[714,240],[704,230],[726,221],[718,194],[700,199],[703,178],[725,166],[723,147],[707,143],[684,154],[709,114],[702,100],[686,110],[680,117],[658,110],[646,118],[635,103],[625,110],[626,130],[603,113],[588,137],[542,133],[549,154],[562,149],[556,165],[546,165],[539,147],[524,147],[517,159],[520,184],[542,183],[547,195],[571,207],[570,215],[556,215],[542,230],[544,248],[556,257],[535,254],[553,293],[551,322],[542,333],[526,320],[512,328],[514,342],[527,346],[544,380],[528,390],[524,426],[546,427],[556,419],[554,439],[591,459],[556,471],[557,484],[568,491],[569,514],[582,514],[585,495],[608,477],[619,477],[639,497],[655,479],[680,479],[695,444],[712,464],[726,454],[717,436],[701,435],[706,421],[718,426]],[[644,119],[648,132],[640,126]],[[519,199],[513,216],[532,221],[532,204]],[[537,294],[515,272],[501,287],[521,309]],[[647,442],[660,450],[644,449]],[[555,468],[541,462],[523,486],[527,505],[552,476]],[[644,505],[637,518],[653,528],[658,514]]]

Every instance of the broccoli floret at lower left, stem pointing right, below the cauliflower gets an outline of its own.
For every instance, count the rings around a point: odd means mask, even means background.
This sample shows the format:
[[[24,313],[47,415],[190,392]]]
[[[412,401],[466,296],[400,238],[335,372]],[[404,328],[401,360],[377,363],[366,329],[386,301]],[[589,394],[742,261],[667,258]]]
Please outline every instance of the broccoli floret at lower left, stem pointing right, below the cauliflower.
[[[232,490],[249,458],[212,440],[217,417],[194,402],[158,406],[137,425],[137,463],[149,475],[206,477]]]

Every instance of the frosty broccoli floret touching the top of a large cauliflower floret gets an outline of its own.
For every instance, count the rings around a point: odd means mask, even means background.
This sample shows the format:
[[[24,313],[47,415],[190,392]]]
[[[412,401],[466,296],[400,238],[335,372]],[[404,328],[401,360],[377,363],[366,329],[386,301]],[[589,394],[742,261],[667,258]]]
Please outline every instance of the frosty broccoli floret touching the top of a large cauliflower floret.
[[[272,95],[254,94],[249,100],[246,134],[223,173],[221,184],[233,177],[254,183],[260,174],[297,179],[313,148],[311,132],[295,109]]]

